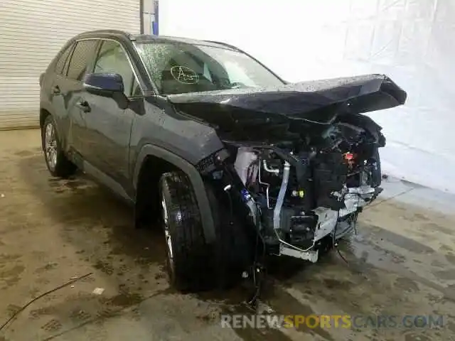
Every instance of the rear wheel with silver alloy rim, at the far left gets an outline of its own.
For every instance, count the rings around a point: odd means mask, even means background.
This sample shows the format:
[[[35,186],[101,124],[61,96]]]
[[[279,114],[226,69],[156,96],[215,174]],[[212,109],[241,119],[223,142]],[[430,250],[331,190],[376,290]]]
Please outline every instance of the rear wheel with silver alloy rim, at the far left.
[[[41,144],[45,164],[51,175],[68,178],[76,171],[76,166],[68,160],[60,144],[60,138],[51,115],[45,118],[41,128]]]

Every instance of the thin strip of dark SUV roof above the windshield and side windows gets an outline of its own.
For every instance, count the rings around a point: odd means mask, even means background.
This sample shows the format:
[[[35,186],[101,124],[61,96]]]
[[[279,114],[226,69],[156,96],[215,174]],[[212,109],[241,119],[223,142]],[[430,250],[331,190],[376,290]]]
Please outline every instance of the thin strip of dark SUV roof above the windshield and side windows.
[[[96,38],[96,37],[104,37],[104,38],[123,38],[132,41],[137,41],[140,43],[146,42],[162,42],[162,43],[187,43],[191,45],[206,45],[206,46],[214,46],[218,48],[230,48],[232,50],[238,50],[235,46],[220,43],[217,41],[211,40],[197,40],[191,38],[181,38],[181,37],[171,37],[171,36],[152,36],[149,34],[137,34],[133,35],[131,33],[127,33],[124,31],[119,30],[97,30],[97,31],[87,31],[84,33],[80,33],[75,37],[75,39],[80,38]]]

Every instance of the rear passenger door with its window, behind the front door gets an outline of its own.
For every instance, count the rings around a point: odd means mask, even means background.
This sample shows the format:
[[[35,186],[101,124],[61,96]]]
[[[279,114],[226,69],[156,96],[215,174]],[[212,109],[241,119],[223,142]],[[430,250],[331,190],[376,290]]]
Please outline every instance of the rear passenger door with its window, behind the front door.
[[[83,79],[87,71],[90,71],[95,60],[100,40],[86,39],[76,42],[65,77],[65,93],[63,99],[68,111],[68,146],[70,153],[77,160],[89,157],[88,146],[90,135],[87,134],[87,102],[88,94],[83,86]]]

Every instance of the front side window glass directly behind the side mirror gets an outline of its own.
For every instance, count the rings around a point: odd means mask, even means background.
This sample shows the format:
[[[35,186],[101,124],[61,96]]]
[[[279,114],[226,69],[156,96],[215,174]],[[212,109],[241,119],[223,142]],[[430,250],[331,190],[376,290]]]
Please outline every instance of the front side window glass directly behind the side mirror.
[[[117,42],[111,40],[102,42],[93,72],[118,73],[122,76],[124,93],[127,97],[138,96],[138,91],[140,94],[141,90],[136,82],[127,55]]]

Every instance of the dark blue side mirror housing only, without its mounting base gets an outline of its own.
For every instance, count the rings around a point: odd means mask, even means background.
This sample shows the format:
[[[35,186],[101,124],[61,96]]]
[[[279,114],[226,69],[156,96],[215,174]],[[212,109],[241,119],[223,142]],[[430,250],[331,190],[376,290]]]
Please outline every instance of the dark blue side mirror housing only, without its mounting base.
[[[122,76],[117,73],[89,73],[85,76],[84,87],[91,94],[106,97],[124,91]]]

